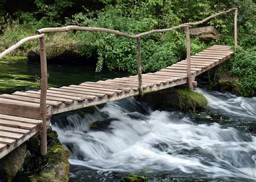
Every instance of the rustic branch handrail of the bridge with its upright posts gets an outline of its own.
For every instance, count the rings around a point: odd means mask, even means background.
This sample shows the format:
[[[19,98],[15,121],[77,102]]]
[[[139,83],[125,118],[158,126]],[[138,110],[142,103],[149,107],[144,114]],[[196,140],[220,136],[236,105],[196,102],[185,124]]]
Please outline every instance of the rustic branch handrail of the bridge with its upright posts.
[[[139,85],[139,95],[143,95],[143,87],[142,87],[142,62],[141,62],[141,46],[140,46],[140,37],[146,36],[152,33],[163,33],[167,31],[173,31],[176,29],[179,29],[181,27],[185,28],[185,34],[186,34],[186,47],[187,47],[187,83],[188,88],[190,90],[193,90],[192,86],[192,76],[191,76],[191,58],[190,58],[190,27],[194,25],[199,25],[207,20],[217,17],[219,15],[223,15],[224,13],[228,13],[234,10],[234,46],[237,47],[237,16],[238,16],[238,9],[233,8],[227,11],[219,12],[215,15],[212,15],[210,17],[207,17],[199,22],[194,23],[184,23],[178,26],[171,27],[169,29],[159,29],[159,30],[151,30],[143,33],[139,33],[136,35],[131,35],[123,32],[119,32],[117,30],[111,30],[111,29],[104,29],[100,27],[81,27],[81,26],[65,26],[65,27],[53,27],[53,28],[43,28],[36,31],[36,35],[26,37],[18,41],[15,45],[12,45],[2,53],[0,53],[0,59],[2,59],[5,55],[9,54],[10,52],[14,51],[16,48],[21,46],[22,44],[26,43],[27,41],[32,41],[39,39],[39,48],[40,48],[40,59],[41,59],[41,95],[40,95],[40,112],[41,112],[41,120],[42,126],[41,126],[41,155],[46,155],[47,153],[47,138],[46,138],[46,122],[48,120],[46,115],[46,92],[47,92],[47,84],[48,84],[48,73],[47,73],[47,62],[46,62],[46,47],[45,47],[45,33],[50,32],[66,32],[70,30],[79,30],[79,31],[96,31],[96,32],[107,32],[107,33],[114,33],[118,36],[123,36],[130,39],[136,39],[137,42],[137,72],[138,72],[138,85]]]

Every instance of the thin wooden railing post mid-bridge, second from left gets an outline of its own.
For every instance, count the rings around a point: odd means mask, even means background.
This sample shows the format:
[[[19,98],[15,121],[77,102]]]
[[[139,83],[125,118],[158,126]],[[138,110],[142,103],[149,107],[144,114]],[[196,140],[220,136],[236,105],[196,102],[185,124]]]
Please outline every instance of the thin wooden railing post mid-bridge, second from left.
[[[142,52],[140,48],[140,38],[137,40],[137,72],[138,72],[138,81],[139,81],[139,96],[143,96],[143,87],[142,87]]]

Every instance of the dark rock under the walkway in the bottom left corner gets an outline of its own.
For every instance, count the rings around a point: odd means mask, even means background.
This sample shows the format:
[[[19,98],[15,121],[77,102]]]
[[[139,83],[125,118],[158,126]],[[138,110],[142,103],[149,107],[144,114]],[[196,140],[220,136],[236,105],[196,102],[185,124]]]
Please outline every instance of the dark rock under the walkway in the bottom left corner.
[[[22,169],[26,153],[26,144],[18,146],[9,155],[0,159],[0,181],[11,181]]]

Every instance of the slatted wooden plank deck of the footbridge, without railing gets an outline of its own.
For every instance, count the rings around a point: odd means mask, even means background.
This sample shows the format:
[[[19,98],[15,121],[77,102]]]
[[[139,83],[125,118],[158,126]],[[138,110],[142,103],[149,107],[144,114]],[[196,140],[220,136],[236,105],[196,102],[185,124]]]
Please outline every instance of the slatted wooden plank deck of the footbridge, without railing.
[[[232,55],[230,46],[214,45],[191,56],[192,79]],[[182,60],[158,72],[142,74],[143,92],[155,92],[187,83],[186,69],[187,61]],[[49,88],[46,96],[48,119],[53,114],[136,96],[139,94],[138,88],[138,75]],[[0,114],[6,117],[0,116],[0,158],[38,132],[36,126],[42,122],[39,121],[39,99],[40,90],[0,95]],[[14,116],[18,117],[14,120]],[[31,121],[34,123],[31,124]]]

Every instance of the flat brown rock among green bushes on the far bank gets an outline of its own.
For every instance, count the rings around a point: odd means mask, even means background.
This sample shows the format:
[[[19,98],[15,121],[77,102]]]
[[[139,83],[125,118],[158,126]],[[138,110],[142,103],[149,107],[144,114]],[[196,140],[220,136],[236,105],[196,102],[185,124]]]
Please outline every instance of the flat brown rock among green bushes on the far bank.
[[[205,26],[197,29],[190,29],[191,35],[200,35],[199,39],[210,42],[211,40],[217,39],[220,34],[213,26]]]

